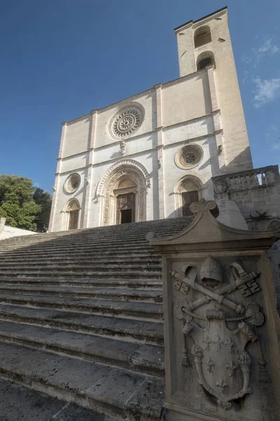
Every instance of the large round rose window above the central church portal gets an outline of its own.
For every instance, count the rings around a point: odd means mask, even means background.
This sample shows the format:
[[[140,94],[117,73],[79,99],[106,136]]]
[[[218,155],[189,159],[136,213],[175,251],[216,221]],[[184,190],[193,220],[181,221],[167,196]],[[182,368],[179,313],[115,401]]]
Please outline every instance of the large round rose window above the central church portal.
[[[144,114],[144,107],[137,102],[132,102],[130,105],[119,109],[109,122],[109,133],[112,138],[130,137],[141,126]]]

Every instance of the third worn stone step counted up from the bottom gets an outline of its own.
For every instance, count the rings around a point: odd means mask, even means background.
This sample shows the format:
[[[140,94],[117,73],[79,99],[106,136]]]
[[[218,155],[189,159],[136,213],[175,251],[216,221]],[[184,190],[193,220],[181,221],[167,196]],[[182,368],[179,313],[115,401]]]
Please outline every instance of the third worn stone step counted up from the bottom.
[[[0,341],[164,377],[164,347],[0,321]]]

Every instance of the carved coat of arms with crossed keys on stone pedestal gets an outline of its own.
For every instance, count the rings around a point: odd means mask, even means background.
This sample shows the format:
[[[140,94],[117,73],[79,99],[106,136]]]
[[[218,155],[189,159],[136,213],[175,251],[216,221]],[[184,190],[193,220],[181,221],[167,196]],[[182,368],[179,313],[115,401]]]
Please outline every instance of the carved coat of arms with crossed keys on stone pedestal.
[[[191,354],[198,382],[216,398],[218,406],[229,410],[232,401],[252,392],[251,356],[245,348],[248,342],[258,339],[255,329],[265,321],[258,305],[250,302],[243,305],[236,301],[236,295],[235,300],[230,295],[246,283],[255,282],[258,273],[247,274],[241,265],[233,263],[225,276],[219,262],[209,257],[201,265],[200,276],[196,274],[196,268],[188,268],[186,275],[172,272],[174,288],[183,293],[185,285],[188,291],[186,298],[179,299],[174,309],[174,316],[185,320],[183,361],[186,343],[193,342]],[[188,300],[192,290],[200,294],[194,301]],[[200,312],[197,313],[197,309]],[[233,324],[235,328],[232,328]],[[191,341],[188,341],[189,335]]]

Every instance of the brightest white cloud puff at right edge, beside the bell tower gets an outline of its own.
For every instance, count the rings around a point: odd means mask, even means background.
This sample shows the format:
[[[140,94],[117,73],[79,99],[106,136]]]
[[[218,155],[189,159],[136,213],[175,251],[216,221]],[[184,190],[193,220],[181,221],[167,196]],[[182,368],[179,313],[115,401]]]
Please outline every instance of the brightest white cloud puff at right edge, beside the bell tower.
[[[253,105],[255,108],[260,108],[280,95],[280,77],[274,79],[260,79],[255,77],[251,79],[255,83],[255,96],[253,98]]]

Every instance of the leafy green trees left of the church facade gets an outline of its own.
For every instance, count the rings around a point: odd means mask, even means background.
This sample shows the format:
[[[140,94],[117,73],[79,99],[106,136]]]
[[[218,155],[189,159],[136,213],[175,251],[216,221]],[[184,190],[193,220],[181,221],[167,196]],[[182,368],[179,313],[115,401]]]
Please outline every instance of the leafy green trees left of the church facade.
[[[42,232],[43,225],[43,230],[46,230],[46,226],[44,222],[41,223],[39,215],[46,218],[43,203],[47,202],[46,198],[49,193],[43,192],[46,193],[43,196],[43,194],[37,192],[34,198],[36,190],[32,180],[27,177],[0,175],[0,216],[6,218],[7,225],[29,229],[30,231],[36,231],[38,225],[40,232]],[[41,203],[38,196],[44,197]]]

